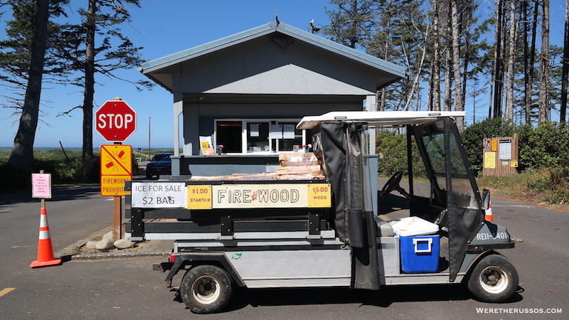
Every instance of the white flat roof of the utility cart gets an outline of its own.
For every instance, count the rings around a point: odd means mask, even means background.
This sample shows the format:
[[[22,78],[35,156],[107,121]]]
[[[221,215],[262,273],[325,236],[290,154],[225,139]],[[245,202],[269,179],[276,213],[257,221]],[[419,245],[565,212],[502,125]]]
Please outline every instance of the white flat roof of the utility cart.
[[[321,122],[367,122],[372,126],[400,126],[436,122],[441,117],[465,117],[464,111],[334,111],[303,117],[297,129],[312,129]]]

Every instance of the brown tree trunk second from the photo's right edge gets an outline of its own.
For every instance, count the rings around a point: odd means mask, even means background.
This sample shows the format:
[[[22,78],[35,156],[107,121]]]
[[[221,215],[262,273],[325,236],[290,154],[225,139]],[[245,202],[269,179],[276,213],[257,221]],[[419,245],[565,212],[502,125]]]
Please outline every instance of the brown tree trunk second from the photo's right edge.
[[[549,0],[543,0],[538,123],[549,121]]]

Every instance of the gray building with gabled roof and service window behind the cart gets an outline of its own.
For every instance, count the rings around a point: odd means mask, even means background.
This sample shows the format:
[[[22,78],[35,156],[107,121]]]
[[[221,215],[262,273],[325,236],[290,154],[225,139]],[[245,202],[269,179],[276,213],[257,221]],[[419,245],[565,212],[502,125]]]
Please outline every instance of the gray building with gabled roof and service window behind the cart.
[[[302,117],[373,110],[376,90],[405,76],[398,65],[278,21],[140,70],[174,95],[174,176],[264,172],[279,152],[310,143],[294,128]],[[201,141],[223,145],[223,155],[204,155]]]

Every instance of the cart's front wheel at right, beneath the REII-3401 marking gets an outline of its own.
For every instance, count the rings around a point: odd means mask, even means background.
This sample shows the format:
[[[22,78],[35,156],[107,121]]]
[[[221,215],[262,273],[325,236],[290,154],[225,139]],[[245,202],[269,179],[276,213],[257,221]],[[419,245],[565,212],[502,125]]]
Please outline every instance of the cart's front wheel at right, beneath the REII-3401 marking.
[[[511,261],[502,255],[487,255],[472,270],[468,289],[483,302],[501,302],[518,289],[518,272]]]

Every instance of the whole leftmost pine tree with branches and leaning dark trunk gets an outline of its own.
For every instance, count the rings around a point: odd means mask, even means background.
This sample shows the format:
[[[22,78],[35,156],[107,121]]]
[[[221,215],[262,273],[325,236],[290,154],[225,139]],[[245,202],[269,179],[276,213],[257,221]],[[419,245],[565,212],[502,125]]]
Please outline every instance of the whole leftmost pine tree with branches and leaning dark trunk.
[[[50,27],[53,29],[55,24],[49,23],[49,17],[61,14],[61,2],[12,1],[10,4],[14,19],[7,23],[8,39],[0,42],[0,69],[4,72],[1,80],[14,92],[14,96],[6,97],[9,105],[5,107],[16,109],[16,114],[20,115],[8,164],[24,171],[28,170],[33,159],[43,75],[57,78],[64,73],[51,55],[46,55],[48,42],[56,39],[50,36],[50,31],[53,34]]]

